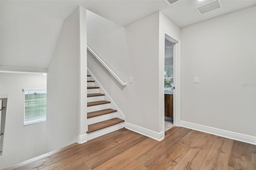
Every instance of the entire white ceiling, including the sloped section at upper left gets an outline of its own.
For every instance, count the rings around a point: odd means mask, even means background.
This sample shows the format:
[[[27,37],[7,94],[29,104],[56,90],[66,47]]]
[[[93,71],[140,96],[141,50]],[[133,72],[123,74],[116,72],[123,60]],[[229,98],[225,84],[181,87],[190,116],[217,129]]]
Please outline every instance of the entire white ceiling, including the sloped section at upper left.
[[[209,0],[0,0],[1,65],[48,68],[64,19],[78,5],[126,26],[161,11],[183,27],[256,4],[256,0],[222,0],[223,8],[200,15],[195,7]]]

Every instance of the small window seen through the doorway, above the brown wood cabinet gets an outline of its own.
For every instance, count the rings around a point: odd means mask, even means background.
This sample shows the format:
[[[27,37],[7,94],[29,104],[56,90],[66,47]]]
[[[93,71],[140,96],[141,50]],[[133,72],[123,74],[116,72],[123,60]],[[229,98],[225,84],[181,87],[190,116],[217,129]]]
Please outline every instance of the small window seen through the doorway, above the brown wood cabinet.
[[[173,91],[173,65],[164,66],[164,91]]]

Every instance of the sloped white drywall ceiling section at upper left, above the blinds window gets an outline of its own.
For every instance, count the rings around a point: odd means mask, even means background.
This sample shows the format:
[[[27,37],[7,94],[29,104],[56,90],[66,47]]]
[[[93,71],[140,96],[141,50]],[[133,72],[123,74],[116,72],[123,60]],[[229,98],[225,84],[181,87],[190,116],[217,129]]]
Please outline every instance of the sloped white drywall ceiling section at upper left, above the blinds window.
[[[0,11],[1,65],[47,69],[63,20],[17,1],[1,1]]]

